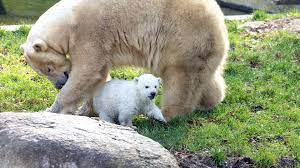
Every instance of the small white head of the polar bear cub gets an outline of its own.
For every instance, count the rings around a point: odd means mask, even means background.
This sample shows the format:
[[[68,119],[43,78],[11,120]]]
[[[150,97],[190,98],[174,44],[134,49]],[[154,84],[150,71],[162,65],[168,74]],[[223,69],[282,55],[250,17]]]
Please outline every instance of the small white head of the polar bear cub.
[[[134,82],[142,98],[153,100],[158,93],[161,79],[151,74],[144,74],[134,78]]]

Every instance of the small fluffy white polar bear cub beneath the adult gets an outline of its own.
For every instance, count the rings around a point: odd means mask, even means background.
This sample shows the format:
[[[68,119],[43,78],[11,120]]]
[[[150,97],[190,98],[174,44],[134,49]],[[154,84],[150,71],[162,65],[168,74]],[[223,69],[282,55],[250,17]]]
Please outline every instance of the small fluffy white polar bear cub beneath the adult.
[[[132,117],[144,114],[158,121],[166,122],[160,109],[155,105],[161,79],[143,74],[132,81],[111,80],[96,89],[93,109],[100,119],[132,127]]]

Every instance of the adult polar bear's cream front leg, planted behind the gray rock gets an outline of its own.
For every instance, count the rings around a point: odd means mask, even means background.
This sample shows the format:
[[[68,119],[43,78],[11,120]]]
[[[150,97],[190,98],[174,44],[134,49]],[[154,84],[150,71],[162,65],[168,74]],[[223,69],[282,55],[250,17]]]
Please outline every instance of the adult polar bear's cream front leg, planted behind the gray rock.
[[[70,77],[48,111],[74,114],[77,103],[83,97],[92,97],[96,86],[104,83],[108,74],[109,66],[99,58],[101,57],[93,56],[89,52],[72,55]]]

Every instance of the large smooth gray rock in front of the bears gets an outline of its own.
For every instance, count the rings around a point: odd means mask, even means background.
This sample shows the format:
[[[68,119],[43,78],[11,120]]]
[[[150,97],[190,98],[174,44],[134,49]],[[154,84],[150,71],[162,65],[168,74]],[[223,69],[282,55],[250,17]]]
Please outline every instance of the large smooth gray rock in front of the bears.
[[[0,113],[0,167],[178,167],[160,144],[130,128],[82,116]]]

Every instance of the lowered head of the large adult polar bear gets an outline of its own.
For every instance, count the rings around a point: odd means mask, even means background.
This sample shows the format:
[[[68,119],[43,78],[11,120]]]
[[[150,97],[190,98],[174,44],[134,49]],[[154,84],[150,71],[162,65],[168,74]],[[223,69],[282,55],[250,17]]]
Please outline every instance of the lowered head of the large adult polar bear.
[[[58,53],[41,39],[21,45],[27,63],[40,75],[45,75],[57,89],[69,78],[71,63],[64,54]]]

